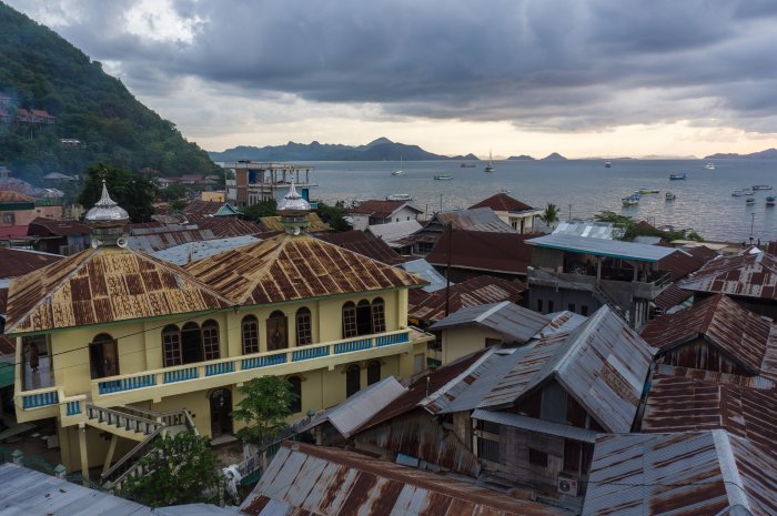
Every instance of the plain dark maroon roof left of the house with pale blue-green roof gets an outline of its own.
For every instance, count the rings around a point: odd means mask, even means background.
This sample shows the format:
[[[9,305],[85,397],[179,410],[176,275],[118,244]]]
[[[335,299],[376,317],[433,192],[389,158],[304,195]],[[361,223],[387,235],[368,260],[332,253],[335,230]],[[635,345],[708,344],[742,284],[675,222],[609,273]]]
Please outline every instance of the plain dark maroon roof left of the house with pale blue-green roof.
[[[527,240],[537,234],[495,233],[485,231],[445,230],[426,261],[432,265],[445,266],[451,241],[451,265],[457,269],[473,269],[484,272],[526,274],[532,263],[533,246]]]

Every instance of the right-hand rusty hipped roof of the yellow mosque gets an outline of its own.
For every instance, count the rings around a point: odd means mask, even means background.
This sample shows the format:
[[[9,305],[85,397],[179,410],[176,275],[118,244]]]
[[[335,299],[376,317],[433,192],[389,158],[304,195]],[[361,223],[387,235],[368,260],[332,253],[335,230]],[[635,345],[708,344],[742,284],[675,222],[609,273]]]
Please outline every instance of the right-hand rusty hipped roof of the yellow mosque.
[[[185,270],[239,304],[416,286],[424,282],[307,235],[279,235],[186,265]]]

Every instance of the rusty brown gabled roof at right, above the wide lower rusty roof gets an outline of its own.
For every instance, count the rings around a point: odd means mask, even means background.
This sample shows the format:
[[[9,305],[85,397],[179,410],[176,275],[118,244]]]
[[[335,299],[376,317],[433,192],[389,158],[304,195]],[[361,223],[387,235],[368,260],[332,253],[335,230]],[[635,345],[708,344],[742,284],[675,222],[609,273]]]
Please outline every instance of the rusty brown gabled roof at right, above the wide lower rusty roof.
[[[753,374],[761,372],[767,348],[777,347],[771,320],[740,307],[725,295],[714,295],[674,314],[656,317],[642,332],[652,346],[668,352],[704,335]]]

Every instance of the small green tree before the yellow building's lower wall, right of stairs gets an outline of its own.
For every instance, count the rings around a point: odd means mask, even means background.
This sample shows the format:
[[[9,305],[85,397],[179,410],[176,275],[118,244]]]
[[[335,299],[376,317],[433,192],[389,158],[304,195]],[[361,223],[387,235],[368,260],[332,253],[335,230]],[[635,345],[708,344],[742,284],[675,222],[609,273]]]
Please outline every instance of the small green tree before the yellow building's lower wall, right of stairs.
[[[280,435],[286,427],[291,405],[297,399],[291,384],[278,376],[260,376],[246,382],[240,392],[244,397],[234,411],[234,418],[246,425],[238,431],[238,437],[262,444]]]

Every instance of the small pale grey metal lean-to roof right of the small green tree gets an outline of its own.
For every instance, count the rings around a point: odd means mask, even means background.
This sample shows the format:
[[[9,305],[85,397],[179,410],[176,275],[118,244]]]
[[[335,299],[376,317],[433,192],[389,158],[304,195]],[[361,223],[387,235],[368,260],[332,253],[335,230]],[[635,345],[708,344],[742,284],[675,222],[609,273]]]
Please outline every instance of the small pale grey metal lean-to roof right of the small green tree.
[[[351,435],[386,405],[407,392],[393,376],[381,380],[349,397],[339,405],[316,415],[300,432],[319,426],[324,422],[330,422],[340,435],[351,437]]]

